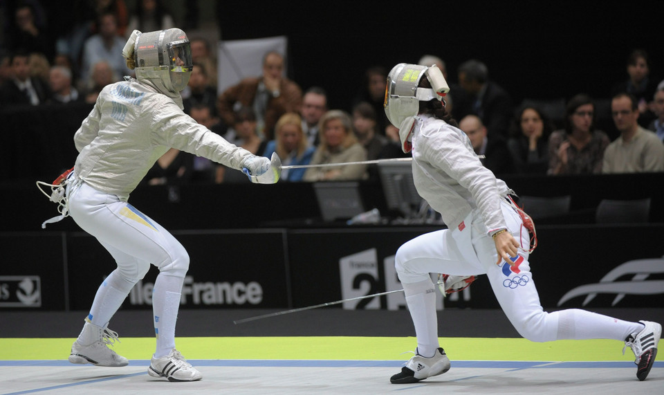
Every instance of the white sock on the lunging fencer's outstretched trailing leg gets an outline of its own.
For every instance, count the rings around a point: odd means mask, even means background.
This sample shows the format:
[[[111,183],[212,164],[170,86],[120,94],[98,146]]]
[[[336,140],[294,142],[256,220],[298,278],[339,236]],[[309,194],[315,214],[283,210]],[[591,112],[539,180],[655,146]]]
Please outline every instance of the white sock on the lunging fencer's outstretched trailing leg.
[[[631,333],[643,330],[640,322],[618,320],[581,309],[557,312],[558,339],[614,339],[625,341]]]

